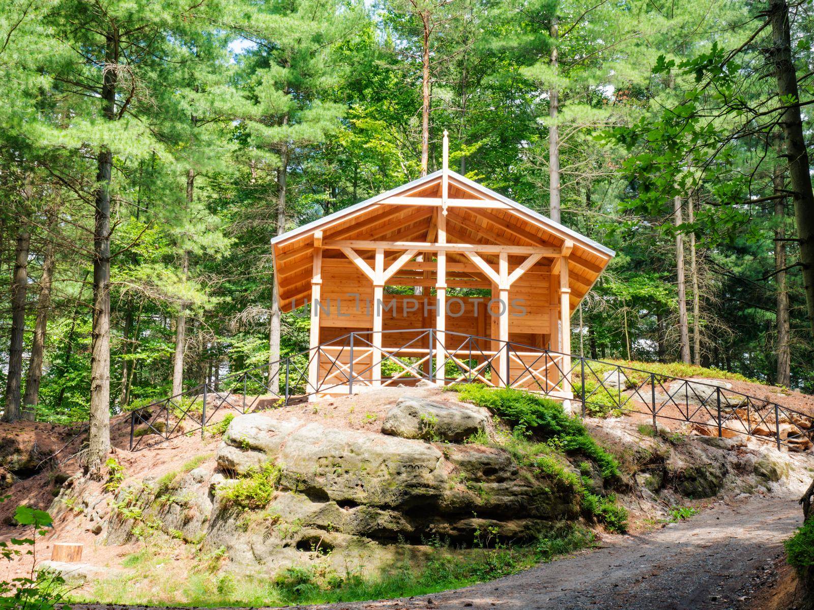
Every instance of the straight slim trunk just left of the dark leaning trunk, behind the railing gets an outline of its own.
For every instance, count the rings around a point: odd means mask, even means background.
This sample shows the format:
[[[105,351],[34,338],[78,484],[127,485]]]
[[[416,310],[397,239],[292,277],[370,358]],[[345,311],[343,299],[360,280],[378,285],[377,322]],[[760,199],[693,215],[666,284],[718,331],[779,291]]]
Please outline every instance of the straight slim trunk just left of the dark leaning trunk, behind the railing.
[[[772,183],[774,194],[781,194],[785,189],[783,165],[774,166]],[[774,268],[777,303],[777,379],[778,386],[791,385],[791,348],[789,328],[789,290],[786,286],[786,198],[774,200]]]

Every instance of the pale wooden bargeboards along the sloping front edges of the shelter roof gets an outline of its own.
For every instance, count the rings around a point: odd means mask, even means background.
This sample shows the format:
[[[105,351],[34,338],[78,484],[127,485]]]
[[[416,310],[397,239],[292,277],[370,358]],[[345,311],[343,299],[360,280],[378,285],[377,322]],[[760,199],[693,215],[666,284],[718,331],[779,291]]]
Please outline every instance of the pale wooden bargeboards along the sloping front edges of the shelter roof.
[[[276,237],[271,239],[272,246],[275,245],[282,245],[285,242],[291,242],[298,237],[303,237],[309,233],[313,233],[319,229],[325,229],[330,227],[331,224],[335,224],[341,220],[346,219],[348,216],[352,216],[357,212],[364,211],[367,207],[372,207],[379,203],[383,203],[383,201],[387,198],[397,197],[400,194],[404,194],[407,191],[417,190],[418,187],[424,184],[429,184],[432,181],[440,180],[441,176],[443,175],[444,170],[438,170],[436,172],[432,172],[427,174],[427,176],[422,176],[417,178],[413,181],[409,181],[404,185],[397,186],[394,189],[387,190],[383,193],[375,195],[374,197],[365,199],[359,203],[355,203],[352,206],[345,207],[342,210],[335,211],[328,216],[322,216],[322,218],[318,218],[317,220],[313,220],[307,224],[303,224],[296,229],[291,229],[286,233],[282,233]],[[606,246],[602,246],[602,244],[593,241],[590,237],[586,237],[581,233],[576,232],[573,229],[569,229],[563,224],[558,222],[554,222],[547,216],[543,216],[537,211],[532,210],[529,207],[523,206],[521,203],[517,203],[512,199],[497,193],[497,191],[489,189],[487,186],[480,185],[475,181],[470,180],[466,176],[462,176],[461,174],[454,172],[453,170],[447,170],[447,175],[449,178],[453,179],[454,181],[459,181],[462,185],[466,187],[478,191],[479,194],[484,195],[484,198],[492,199],[493,201],[497,201],[499,203],[505,204],[506,209],[510,213],[514,213],[515,216],[518,216],[522,220],[526,220],[532,224],[536,224],[541,229],[547,229],[553,233],[560,233],[561,235],[564,234],[567,237],[571,238],[575,242],[580,243],[581,246],[587,246],[595,251],[602,253],[607,257],[615,256],[615,251],[610,250],[610,248]],[[473,199],[473,201],[478,201],[477,199]],[[440,198],[439,198],[440,202]]]

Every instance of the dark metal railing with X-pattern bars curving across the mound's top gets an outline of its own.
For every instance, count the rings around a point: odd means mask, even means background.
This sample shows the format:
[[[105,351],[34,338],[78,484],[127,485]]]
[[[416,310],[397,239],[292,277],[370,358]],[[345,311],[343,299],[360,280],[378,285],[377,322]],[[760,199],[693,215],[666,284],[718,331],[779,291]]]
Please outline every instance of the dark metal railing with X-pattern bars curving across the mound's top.
[[[806,451],[814,439],[812,416],[725,386],[518,342],[407,329],[347,333],[222,377],[217,386],[204,383],[134,409],[130,450],[181,434],[200,431],[204,436],[212,417],[224,407],[247,413],[287,406],[314,394],[354,394],[422,380],[528,390],[574,401],[583,417],[637,413],[653,425],[658,420],[679,421],[695,434],[743,434],[771,440],[778,449]]]

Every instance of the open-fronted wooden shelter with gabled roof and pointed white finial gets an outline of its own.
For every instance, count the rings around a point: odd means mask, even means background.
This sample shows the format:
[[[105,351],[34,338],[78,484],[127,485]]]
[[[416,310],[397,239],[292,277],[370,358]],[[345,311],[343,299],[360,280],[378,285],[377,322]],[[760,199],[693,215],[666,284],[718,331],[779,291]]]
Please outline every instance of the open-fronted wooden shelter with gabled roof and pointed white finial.
[[[568,377],[571,313],[614,252],[447,158],[444,136],[440,171],[272,240],[279,307],[311,305],[310,391],[462,372],[531,389]]]

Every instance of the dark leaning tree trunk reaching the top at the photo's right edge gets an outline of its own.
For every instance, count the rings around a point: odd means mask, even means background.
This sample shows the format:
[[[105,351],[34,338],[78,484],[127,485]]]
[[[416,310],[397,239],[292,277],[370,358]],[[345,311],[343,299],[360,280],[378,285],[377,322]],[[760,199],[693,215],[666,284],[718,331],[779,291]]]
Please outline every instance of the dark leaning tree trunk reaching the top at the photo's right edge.
[[[814,192],[803,121],[800,117],[797,72],[791,57],[789,5],[786,0],[769,0],[768,19],[772,24],[771,59],[777,80],[777,94],[784,103],[789,104],[781,115],[779,124],[783,129],[786,157],[789,159],[794,220],[800,244],[800,263],[803,265],[803,287],[808,321],[814,333]]]

